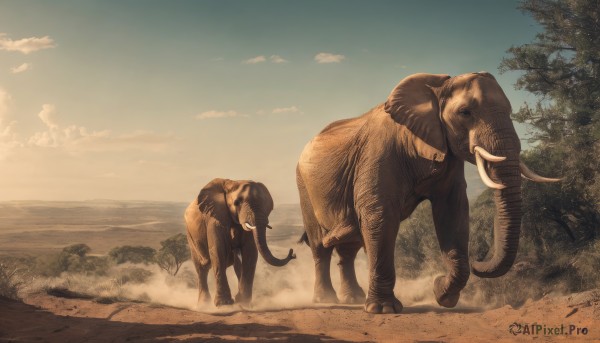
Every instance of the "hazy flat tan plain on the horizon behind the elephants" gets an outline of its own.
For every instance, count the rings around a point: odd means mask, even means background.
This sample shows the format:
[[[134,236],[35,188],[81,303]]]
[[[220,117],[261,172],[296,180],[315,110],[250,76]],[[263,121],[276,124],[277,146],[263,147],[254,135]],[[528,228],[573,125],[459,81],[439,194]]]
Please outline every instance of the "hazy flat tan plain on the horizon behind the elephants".
[[[485,186],[477,169],[465,168],[473,202]],[[0,251],[39,254],[86,243],[94,254],[115,246],[160,247],[160,241],[185,232],[184,202],[162,201],[6,201],[0,202]],[[269,217],[270,240],[300,238],[304,231],[299,204],[275,204]]]

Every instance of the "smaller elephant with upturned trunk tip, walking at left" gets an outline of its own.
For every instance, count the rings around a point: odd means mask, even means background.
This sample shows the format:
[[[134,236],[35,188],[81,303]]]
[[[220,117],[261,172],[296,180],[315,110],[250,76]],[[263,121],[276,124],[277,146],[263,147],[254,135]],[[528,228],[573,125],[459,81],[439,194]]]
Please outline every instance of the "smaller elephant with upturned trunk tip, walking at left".
[[[239,281],[235,301],[249,304],[258,253],[267,263],[285,266],[295,258],[271,254],[266,240],[273,199],[260,182],[214,179],[185,210],[187,238],[198,272],[198,303],[210,302],[207,277],[212,266],[217,283],[215,306],[233,304],[225,273],[234,266]],[[241,255],[241,261],[240,261]]]

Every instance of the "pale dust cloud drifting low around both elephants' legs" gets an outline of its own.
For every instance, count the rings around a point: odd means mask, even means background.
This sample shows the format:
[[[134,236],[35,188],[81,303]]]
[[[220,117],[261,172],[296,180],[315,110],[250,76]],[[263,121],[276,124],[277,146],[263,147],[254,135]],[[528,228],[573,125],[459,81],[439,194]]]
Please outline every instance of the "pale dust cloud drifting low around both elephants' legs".
[[[83,275],[63,273],[61,277],[39,278],[29,289],[66,288],[70,291],[96,297],[112,297],[122,300],[138,300],[163,304],[178,308],[186,308],[206,313],[227,313],[240,310],[269,311],[291,308],[308,308],[328,306],[331,304],[314,304],[312,302],[314,287],[314,263],[310,248],[305,244],[297,244],[296,237],[272,240],[269,242],[275,256],[284,257],[289,248],[293,248],[297,258],[284,267],[268,265],[260,256],[256,267],[253,287],[253,300],[249,308],[238,304],[215,307],[214,304],[197,304],[197,275],[191,261],[183,264],[177,276],[173,277],[157,265],[123,264],[113,267],[109,276]],[[333,287],[340,286],[340,275],[337,266],[338,257],[334,252],[331,263],[331,279]],[[367,258],[364,250],[360,250],[355,262],[358,283],[365,292],[368,287]],[[141,282],[122,281],[118,275],[128,269],[144,269],[148,277]],[[438,306],[433,295],[433,283],[439,275],[433,268],[428,268],[415,279],[397,279],[395,295],[404,306]],[[232,297],[238,289],[238,281],[233,267],[227,269],[227,277]],[[473,282],[473,281],[471,281]],[[208,285],[214,297],[215,279],[209,273]],[[214,299],[214,298],[213,298]],[[345,305],[346,306],[346,305]],[[362,306],[362,305],[356,305]],[[481,307],[482,297],[478,292],[462,294],[458,307]]]

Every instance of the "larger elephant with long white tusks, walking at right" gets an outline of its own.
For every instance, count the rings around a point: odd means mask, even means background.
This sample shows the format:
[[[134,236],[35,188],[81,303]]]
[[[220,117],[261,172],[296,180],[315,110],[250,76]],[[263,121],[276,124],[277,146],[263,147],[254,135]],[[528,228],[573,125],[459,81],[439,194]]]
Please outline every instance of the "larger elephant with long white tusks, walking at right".
[[[297,183],[315,261],[315,302],[335,302],[329,275],[332,250],[340,257],[340,300],[362,302],[354,259],[364,246],[369,266],[365,311],[398,313],[394,243],[399,224],[429,199],[448,269],[434,282],[437,302],[454,307],[469,278],[469,204],[464,161],[476,164],[495,188],[494,253],[471,268],[498,277],[513,264],[521,226],[521,175],[536,175],[519,160],[519,137],[506,95],[486,72],[415,74],[387,101],[360,117],[327,126],[304,148]]]

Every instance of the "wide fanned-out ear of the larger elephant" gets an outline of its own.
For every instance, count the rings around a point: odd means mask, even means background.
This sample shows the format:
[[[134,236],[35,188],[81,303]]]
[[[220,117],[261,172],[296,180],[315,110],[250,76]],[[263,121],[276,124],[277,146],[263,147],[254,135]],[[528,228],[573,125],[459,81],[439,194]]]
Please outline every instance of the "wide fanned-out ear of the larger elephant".
[[[385,102],[385,111],[413,134],[417,154],[432,161],[443,161],[448,151],[435,89],[449,78],[441,74],[411,75],[400,81]]]

